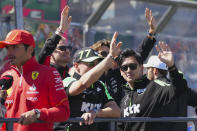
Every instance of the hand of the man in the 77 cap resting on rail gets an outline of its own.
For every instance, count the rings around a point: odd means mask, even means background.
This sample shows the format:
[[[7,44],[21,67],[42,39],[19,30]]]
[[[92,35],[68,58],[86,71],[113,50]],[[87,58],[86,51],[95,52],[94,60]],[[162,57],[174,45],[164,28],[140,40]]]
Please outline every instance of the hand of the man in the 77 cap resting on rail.
[[[87,113],[84,113],[81,118],[84,119],[83,123],[85,125],[91,125],[94,123],[94,118],[96,117],[96,113],[94,111],[90,111]],[[82,126],[82,122],[79,123],[80,126]]]

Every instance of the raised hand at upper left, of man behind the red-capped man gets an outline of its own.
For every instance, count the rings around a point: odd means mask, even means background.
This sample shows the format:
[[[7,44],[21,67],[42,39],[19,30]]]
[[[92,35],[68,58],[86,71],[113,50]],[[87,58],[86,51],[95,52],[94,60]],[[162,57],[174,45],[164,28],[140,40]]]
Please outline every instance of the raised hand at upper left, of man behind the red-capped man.
[[[70,23],[72,21],[72,16],[68,16],[69,10],[70,10],[70,7],[65,6],[61,13],[59,29],[62,30],[63,32],[68,30]]]

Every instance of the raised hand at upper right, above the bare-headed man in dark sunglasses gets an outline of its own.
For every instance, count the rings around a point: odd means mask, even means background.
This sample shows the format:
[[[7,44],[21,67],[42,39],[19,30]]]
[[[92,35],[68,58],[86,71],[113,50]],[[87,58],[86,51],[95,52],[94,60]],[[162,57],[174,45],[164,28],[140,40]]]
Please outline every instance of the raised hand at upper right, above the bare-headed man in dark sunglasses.
[[[150,29],[149,29],[149,33],[151,34],[155,34],[155,31],[156,31],[156,22],[155,22],[155,18],[154,16],[152,15],[152,11],[148,8],[146,8],[145,10],[145,17],[146,17],[146,20],[150,26]]]

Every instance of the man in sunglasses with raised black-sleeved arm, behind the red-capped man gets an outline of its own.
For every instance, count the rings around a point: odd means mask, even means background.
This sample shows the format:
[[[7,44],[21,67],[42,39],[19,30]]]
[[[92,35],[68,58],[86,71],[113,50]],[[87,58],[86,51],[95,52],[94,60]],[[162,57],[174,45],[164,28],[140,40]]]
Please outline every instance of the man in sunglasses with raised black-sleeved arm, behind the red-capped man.
[[[70,62],[72,52],[72,47],[67,44],[66,39],[63,37],[72,19],[71,16],[68,16],[68,13],[69,7],[66,6],[61,13],[60,26],[57,28],[55,34],[45,42],[44,47],[38,55],[38,62],[55,67],[62,79],[69,76],[68,63]]]

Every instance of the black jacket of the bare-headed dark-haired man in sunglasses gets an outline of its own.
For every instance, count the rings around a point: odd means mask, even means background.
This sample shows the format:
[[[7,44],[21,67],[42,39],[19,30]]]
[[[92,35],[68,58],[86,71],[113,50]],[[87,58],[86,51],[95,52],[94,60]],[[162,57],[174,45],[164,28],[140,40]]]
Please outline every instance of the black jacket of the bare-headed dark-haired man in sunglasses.
[[[187,115],[187,97],[191,93],[183,75],[177,68],[170,71],[170,81],[159,78],[149,81],[146,77],[134,82],[131,90],[123,86],[122,117],[177,117]],[[185,99],[181,104],[181,99]],[[128,122],[124,131],[186,131],[186,123]]]

